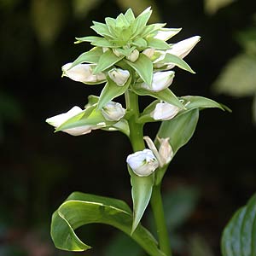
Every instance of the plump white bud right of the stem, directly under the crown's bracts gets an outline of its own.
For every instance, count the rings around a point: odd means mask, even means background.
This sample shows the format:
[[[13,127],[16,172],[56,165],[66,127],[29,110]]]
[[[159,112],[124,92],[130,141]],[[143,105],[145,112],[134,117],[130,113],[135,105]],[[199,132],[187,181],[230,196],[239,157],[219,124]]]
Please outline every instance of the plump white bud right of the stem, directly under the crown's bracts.
[[[152,84],[143,83],[141,86],[146,90],[160,91],[172,84],[174,71],[160,71],[153,74]]]

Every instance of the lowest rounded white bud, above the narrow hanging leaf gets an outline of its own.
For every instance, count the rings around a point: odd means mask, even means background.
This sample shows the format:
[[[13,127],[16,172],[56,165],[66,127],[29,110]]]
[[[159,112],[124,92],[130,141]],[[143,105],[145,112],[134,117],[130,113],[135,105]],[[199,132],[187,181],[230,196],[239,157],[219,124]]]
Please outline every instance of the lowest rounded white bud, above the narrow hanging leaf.
[[[152,174],[159,166],[158,160],[148,148],[143,151],[137,151],[134,154],[129,154],[126,162],[131,167],[131,170],[140,177]]]

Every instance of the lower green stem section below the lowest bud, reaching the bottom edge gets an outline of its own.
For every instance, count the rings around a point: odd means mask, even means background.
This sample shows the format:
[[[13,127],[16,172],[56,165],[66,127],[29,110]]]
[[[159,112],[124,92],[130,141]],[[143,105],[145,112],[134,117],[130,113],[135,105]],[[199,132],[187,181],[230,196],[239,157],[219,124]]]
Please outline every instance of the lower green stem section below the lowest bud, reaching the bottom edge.
[[[166,227],[166,218],[164,214],[160,188],[160,184],[153,187],[150,203],[154,214],[154,221],[159,238],[160,250],[163,253],[166,253],[166,256],[172,256],[172,249]]]

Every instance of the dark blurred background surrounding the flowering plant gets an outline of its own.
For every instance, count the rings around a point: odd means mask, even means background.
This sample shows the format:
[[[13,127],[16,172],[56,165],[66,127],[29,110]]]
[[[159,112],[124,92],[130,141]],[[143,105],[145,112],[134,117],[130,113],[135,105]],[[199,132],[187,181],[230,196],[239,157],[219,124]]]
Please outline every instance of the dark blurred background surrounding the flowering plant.
[[[201,42],[185,58],[196,74],[175,68],[172,90],[177,96],[207,96],[233,111],[201,111],[194,137],[180,149],[166,173],[164,193],[179,188],[197,191],[193,211],[177,229],[187,246],[177,248],[176,255],[193,255],[190,241],[194,250],[206,247],[196,256],[220,255],[224,225],[255,192],[253,96],[234,97],[212,90],[227,61],[242,50],[235,35],[252,26],[255,1],[237,0],[212,14],[206,2],[199,0],[140,3],[88,1],[87,7],[79,9],[79,1],[0,1],[1,256],[75,254],[55,249],[49,236],[52,212],[73,191],[112,196],[131,204],[125,169],[131,146],[124,135],[94,131],[72,137],[54,133],[45,123],[74,105],[82,108],[87,96],[99,95],[102,85],[61,78],[61,66],[90,49],[90,44],[73,42],[75,37],[93,34],[91,20],[115,18],[125,6],[134,7],[138,14],[151,5],[153,22],[183,27],[172,43],[200,35]],[[154,137],[157,127],[146,125],[145,134]],[[78,255],[104,252],[118,232],[99,225],[88,229],[86,239],[95,248]]]

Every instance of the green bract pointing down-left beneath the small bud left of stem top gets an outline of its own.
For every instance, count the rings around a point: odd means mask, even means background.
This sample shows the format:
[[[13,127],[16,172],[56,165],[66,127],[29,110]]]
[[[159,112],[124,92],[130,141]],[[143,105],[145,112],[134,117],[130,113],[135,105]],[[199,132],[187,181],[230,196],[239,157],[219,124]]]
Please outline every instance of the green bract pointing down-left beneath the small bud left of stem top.
[[[121,96],[122,94],[124,94],[125,90],[128,89],[130,84],[131,76],[123,86],[115,84],[112,79],[108,78],[108,82],[101,92],[97,108],[102,109],[102,107],[104,107],[108,102],[112,101],[117,96]]]

